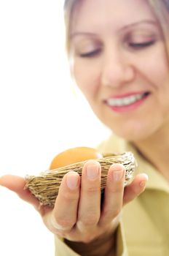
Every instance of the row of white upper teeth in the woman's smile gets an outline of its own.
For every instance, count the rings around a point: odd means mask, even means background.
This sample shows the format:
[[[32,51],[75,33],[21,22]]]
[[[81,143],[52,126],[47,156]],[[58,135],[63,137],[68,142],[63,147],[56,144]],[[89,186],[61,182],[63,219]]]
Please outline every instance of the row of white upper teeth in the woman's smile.
[[[114,107],[122,107],[127,106],[130,104],[133,104],[134,102],[137,102],[139,99],[142,99],[144,97],[144,94],[135,94],[129,97],[123,97],[123,98],[114,98],[114,99],[107,99],[107,103]]]

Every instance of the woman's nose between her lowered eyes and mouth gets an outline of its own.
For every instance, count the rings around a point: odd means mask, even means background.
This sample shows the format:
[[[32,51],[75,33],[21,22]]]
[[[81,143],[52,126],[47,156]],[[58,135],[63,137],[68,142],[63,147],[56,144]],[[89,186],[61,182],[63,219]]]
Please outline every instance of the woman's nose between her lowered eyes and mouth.
[[[103,57],[101,82],[103,86],[119,87],[135,78],[135,67],[130,57],[114,50]]]

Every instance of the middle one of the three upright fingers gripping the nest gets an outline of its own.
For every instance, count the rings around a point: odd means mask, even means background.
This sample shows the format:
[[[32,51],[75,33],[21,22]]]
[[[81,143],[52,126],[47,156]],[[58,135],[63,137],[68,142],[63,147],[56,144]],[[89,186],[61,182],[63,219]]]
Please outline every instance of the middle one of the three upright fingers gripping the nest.
[[[77,227],[84,231],[91,229],[101,214],[101,165],[89,160],[82,170],[82,181]]]

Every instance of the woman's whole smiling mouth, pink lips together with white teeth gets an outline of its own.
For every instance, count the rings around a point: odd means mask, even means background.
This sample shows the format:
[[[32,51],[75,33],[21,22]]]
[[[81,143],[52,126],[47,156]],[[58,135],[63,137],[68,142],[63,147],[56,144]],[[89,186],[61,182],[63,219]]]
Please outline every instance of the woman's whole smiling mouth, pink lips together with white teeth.
[[[149,91],[117,95],[106,99],[106,104],[114,110],[129,110],[136,108],[149,96]]]

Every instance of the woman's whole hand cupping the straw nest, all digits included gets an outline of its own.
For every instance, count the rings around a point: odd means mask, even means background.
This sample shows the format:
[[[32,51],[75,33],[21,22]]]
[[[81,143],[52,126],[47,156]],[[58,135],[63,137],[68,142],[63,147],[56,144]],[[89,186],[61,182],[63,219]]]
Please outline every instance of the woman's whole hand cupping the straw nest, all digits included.
[[[120,164],[111,165],[101,205],[101,165],[95,160],[89,160],[83,167],[82,178],[75,172],[69,172],[63,177],[55,207],[51,209],[40,206],[31,192],[24,189],[24,178],[0,178],[2,186],[16,192],[39,211],[44,224],[52,233],[86,245],[102,238],[102,235],[106,235],[108,240],[112,238],[119,224],[122,206],[144,191],[146,181],[147,176],[139,174],[124,189],[125,168]]]

